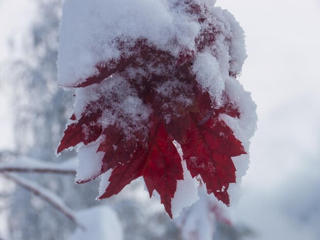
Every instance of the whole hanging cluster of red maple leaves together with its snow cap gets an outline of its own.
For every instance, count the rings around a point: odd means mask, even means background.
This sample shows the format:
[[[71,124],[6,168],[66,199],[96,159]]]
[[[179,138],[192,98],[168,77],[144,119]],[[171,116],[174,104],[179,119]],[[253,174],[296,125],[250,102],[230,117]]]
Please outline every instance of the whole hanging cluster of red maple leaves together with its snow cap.
[[[236,136],[252,136],[255,105],[237,80],[243,32],[214,3],[65,2],[58,83],[76,89],[76,103],[57,152],[94,149],[95,167],[78,182],[110,171],[100,199],[143,177],[172,217],[185,176],[175,140],[191,176],[230,204],[232,157],[246,154]]]

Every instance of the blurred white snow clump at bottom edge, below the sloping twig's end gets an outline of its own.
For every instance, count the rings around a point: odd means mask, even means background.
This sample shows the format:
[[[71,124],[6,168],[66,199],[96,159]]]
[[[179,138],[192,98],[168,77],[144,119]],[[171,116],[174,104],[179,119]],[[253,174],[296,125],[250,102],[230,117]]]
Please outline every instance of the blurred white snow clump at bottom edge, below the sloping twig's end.
[[[117,213],[108,206],[95,206],[76,213],[85,229],[76,229],[69,240],[122,240],[123,229]]]

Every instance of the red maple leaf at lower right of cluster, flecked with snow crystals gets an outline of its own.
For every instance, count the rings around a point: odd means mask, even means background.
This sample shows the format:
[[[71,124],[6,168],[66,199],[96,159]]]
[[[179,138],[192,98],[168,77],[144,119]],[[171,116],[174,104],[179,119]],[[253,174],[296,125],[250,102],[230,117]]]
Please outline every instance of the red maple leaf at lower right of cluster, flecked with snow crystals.
[[[199,125],[191,114],[191,129],[187,131],[187,142],[181,144],[188,170],[192,177],[201,176],[208,194],[230,204],[227,189],[236,182],[236,168],[231,157],[245,154],[241,142],[222,121],[209,118]]]

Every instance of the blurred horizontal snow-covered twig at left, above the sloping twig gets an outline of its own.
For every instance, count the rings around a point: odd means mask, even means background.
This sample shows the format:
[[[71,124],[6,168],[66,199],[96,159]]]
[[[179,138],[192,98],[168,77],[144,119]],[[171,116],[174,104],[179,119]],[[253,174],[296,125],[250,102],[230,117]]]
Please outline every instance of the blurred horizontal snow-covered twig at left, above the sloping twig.
[[[44,162],[27,157],[18,157],[13,162],[0,162],[0,172],[54,173],[76,175],[77,159],[62,163]]]

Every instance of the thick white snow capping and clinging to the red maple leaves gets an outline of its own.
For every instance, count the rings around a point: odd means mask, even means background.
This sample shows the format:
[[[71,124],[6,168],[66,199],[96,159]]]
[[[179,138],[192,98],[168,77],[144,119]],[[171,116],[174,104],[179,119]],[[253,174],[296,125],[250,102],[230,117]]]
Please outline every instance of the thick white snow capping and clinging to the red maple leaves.
[[[213,105],[217,108],[223,106],[227,99],[240,111],[240,118],[223,114],[220,118],[232,128],[248,153],[249,139],[256,129],[257,116],[256,105],[250,93],[246,92],[236,79],[246,58],[243,30],[232,14],[214,7],[215,1],[186,2],[205,6],[213,17],[199,21],[195,14],[186,10],[185,1],[180,0],[66,0],[60,26],[58,84],[66,89],[77,87],[87,78],[99,74],[97,66],[120,57],[134,56],[132,47],[138,39],[146,39],[149,45],[166,51],[175,58],[179,58],[179,54],[187,50],[188,53],[195,54],[191,70],[202,91],[209,92]],[[209,25],[215,29],[215,32],[209,33],[214,36],[214,45],[199,49],[195,39],[201,30]],[[119,39],[124,45],[121,51]],[[201,42],[202,39],[197,40]],[[123,50],[127,50],[124,52],[125,56],[121,56]],[[129,66],[126,74],[128,78],[136,79],[139,85],[140,79],[147,75],[146,68],[149,73],[161,76],[162,73],[173,72],[171,67],[174,66]],[[170,122],[172,114],[179,115],[172,107],[174,104],[179,103],[179,106],[187,108],[194,101],[192,86],[175,78],[154,84],[157,98],[167,100],[167,104],[161,106],[167,123]],[[90,102],[102,98],[105,101],[100,104],[110,106],[104,108],[102,117],[99,118],[103,128],[117,125],[127,136],[136,131],[148,133],[148,119],[154,109],[144,104],[126,78],[117,73],[99,84],[77,88],[74,110],[76,119],[81,117]],[[96,149],[101,140],[99,138],[88,146],[78,148],[80,161],[77,180],[88,179],[99,173],[102,155],[96,153]],[[94,159],[94,162],[90,163],[92,166],[88,166],[91,161],[88,158]],[[234,157],[233,161],[237,169],[237,184],[231,184],[228,189],[231,200],[239,193],[239,183],[247,170],[249,156]],[[192,190],[192,198],[189,199],[191,202],[182,201],[188,199],[190,194],[186,182],[189,182],[192,189],[197,186],[193,181],[195,179],[187,173],[186,166],[183,166],[185,183],[178,181],[172,200],[174,216],[198,199]],[[100,196],[103,188],[108,186],[110,175],[111,171],[108,171],[102,176]]]

